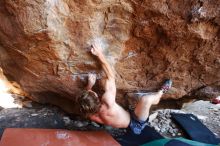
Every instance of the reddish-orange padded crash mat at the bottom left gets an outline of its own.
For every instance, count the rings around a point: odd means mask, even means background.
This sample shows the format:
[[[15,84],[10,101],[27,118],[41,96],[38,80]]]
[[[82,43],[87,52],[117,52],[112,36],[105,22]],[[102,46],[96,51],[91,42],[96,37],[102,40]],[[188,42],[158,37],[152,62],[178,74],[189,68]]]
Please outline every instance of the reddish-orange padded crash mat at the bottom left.
[[[104,131],[13,129],[4,131],[0,146],[120,146]]]

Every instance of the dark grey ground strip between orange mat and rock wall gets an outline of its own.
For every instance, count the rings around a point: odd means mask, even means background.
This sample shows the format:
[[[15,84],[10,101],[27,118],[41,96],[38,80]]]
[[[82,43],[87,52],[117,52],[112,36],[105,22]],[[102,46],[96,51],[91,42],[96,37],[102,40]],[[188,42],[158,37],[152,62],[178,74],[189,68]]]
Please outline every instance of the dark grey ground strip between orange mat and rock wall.
[[[112,135],[123,133],[123,129],[73,117],[51,105],[31,108],[10,108],[0,110],[0,136],[5,128],[47,128],[68,130],[106,130]]]

